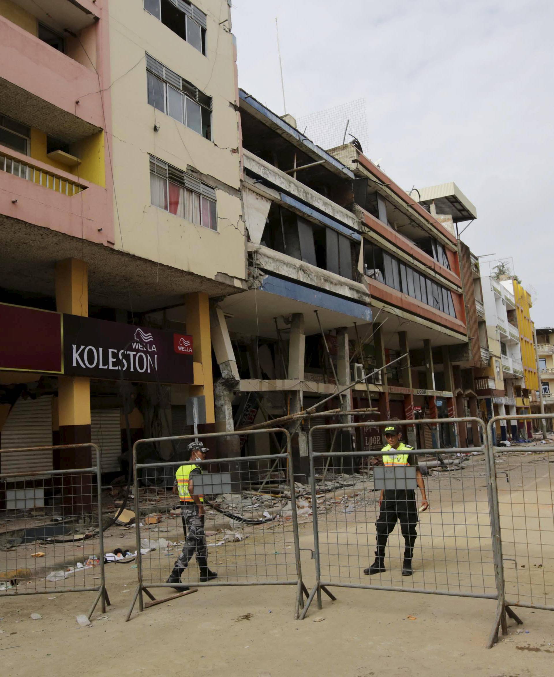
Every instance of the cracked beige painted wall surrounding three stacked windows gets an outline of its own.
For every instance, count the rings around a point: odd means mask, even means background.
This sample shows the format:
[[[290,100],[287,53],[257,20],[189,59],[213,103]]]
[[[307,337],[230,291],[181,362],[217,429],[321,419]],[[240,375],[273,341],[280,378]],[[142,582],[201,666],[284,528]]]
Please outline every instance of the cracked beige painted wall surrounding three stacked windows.
[[[229,8],[221,0],[198,0],[196,5],[208,17],[207,56],[145,12],[142,2],[110,3],[113,167],[123,248],[207,278],[221,272],[244,279],[238,195],[217,190],[217,233],[150,204],[149,153],[179,169],[195,167],[237,191],[240,187],[239,155],[232,152],[238,148],[233,37],[227,24],[219,26]],[[148,105],[145,52],[213,97],[213,141]],[[116,247],[121,248],[115,204],[114,219]]]

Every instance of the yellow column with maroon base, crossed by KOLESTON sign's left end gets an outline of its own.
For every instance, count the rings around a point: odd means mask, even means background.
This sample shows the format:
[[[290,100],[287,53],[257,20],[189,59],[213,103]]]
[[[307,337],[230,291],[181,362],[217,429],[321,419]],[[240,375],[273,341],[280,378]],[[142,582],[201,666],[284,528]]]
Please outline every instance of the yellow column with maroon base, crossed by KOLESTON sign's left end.
[[[56,309],[70,315],[89,315],[87,263],[64,259],[56,263]],[[91,441],[90,381],[81,376],[58,377],[58,420],[60,444]],[[90,449],[68,449],[54,452],[54,468],[87,468],[91,466]]]

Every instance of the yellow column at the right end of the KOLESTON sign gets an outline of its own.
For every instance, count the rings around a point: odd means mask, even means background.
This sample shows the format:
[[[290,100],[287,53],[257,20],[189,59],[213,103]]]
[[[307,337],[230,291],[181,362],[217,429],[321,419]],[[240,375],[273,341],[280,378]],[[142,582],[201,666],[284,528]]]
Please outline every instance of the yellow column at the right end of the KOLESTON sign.
[[[211,333],[209,298],[203,292],[185,295],[187,333],[192,336],[192,359],[200,368],[194,370],[195,384],[191,385],[192,396],[204,395],[206,398],[206,422],[215,422],[213,405],[213,374],[211,369]],[[198,376],[196,376],[198,374]],[[198,380],[197,380],[198,379]]]

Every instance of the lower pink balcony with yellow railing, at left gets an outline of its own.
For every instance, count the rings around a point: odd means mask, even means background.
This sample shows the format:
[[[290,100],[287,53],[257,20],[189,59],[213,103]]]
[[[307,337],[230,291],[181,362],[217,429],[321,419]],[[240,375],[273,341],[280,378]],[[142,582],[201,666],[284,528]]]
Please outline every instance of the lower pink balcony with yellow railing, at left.
[[[0,181],[7,198],[0,205],[0,221],[9,226],[3,244],[12,232],[18,237],[22,222],[91,242],[114,242],[106,188],[5,146],[0,146]]]

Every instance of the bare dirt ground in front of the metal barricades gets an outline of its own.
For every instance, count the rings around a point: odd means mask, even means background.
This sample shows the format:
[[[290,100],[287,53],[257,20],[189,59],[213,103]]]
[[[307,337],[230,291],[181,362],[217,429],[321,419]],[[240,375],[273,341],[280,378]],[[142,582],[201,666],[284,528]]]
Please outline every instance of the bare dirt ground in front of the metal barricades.
[[[311,584],[309,554],[303,569]],[[484,645],[494,601],[373,590],[335,588],[336,602],[324,596],[322,611],[314,605],[304,621],[294,621],[293,586],[200,588],[144,613],[135,611],[125,623],[136,569],[112,564],[106,573],[112,607],[105,619],[95,612],[87,628],[80,628],[75,616],[87,613],[93,593],[3,598],[4,677],[184,671],[210,677],[553,674],[553,616],[547,611],[521,609],[524,626],[509,621],[509,636],[490,650]],[[30,619],[31,613],[42,619]],[[324,621],[314,622],[318,617]]]

